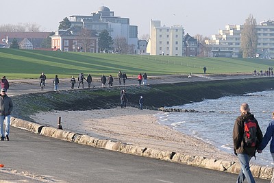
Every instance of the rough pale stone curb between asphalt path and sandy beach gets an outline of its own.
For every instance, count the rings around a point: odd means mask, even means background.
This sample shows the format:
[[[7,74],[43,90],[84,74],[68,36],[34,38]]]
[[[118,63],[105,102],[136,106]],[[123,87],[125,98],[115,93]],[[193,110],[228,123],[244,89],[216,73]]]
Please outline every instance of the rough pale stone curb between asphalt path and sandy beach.
[[[202,156],[190,156],[186,154],[179,154],[176,152],[161,151],[159,149],[153,149],[149,147],[139,147],[136,145],[129,145],[121,142],[94,138],[88,135],[77,134],[75,132],[67,132],[65,130],[59,130],[54,127],[47,127],[38,123],[32,123],[29,121],[24,121],[22,119],[16,119],[14,117],[11,118],[11,125],[24,130],[28,130],[30,132],[34,132],[36,134],[58,138],[73,143],[79,143],[82,145],[90,145],[92,147],[108,149],[111,151],[119,151],[125,154],[145,156],[149,158],[177,162],[195,167],[224,171],[228,173],[238,174],[240,172],[240,164],[238,162],[215,160]],[[255,164],[251,165],[251,172],[254,178],[271,180],[273,171],[273,167],[262,167]]]

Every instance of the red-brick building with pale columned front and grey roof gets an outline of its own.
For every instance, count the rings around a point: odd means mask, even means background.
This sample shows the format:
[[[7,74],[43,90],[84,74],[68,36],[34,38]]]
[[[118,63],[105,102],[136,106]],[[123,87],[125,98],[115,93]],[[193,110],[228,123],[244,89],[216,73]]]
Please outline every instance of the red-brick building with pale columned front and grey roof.
[[[98,52],[98,36],[95,32],[71,27],[66,30],[58,30],[51,36],[51,48],[61,51]]]

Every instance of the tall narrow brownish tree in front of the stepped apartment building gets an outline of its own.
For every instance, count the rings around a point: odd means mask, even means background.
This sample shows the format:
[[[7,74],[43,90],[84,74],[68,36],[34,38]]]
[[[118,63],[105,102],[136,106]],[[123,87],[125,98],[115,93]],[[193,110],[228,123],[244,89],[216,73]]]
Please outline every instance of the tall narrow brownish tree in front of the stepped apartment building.
[[[256,54],[258,44],[256,24],[256,19],[249,14],[249,17],[245,20],[240,36],[242,58],[253,57]]]

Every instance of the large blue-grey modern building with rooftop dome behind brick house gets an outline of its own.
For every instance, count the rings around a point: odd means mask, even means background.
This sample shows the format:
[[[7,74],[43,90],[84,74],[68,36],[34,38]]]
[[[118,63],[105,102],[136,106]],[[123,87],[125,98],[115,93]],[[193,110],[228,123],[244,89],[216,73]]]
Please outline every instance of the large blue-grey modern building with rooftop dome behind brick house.
[[[114,16],[114,12],[108,7],[101,6],[97,12],[92,12],[90,15],[69,16],[69,20],[71,27],[82,27],[97,33],[106,29],[113,39],[123,37],[127,45],[134,45],[135,50],[138,47],[138,26],[129,25],[128,18]]]

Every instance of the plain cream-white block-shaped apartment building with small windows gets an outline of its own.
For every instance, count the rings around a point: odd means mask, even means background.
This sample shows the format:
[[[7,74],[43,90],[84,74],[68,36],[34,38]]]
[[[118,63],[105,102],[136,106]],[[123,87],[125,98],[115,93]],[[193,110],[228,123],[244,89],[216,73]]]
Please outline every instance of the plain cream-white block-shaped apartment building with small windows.
[[[184,56],[184,27],[161,27],[160,21],[150,22],[150,38],[147,53],[153,56]]]

